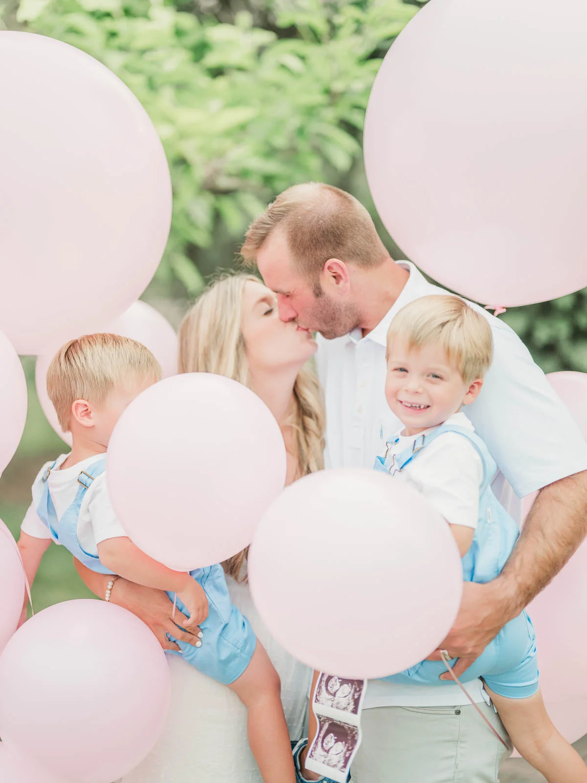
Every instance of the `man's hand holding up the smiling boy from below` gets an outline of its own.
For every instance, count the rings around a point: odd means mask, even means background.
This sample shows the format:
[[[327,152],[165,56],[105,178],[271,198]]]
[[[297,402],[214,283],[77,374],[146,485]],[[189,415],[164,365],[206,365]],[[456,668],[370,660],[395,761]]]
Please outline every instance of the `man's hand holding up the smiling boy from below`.
[[[427,660],[440,661],[440,651],[448,651],[449,658],[458,659],[453,671],[460,677],[512,619],[512,605],[503,587],[499,578],[487,584],[463,583],[463,601],[455,624]],[[441,680],[450,679],[448,672],[441,675]]]

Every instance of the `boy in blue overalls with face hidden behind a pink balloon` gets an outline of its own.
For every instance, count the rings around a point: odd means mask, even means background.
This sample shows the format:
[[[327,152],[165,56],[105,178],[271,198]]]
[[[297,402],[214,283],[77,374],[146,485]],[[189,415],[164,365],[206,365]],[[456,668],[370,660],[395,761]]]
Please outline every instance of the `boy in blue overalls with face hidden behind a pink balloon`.
[[[294,783],[279,677],[249,622],[231,604],[221,565],[191,574],[172,571],[135,547],[110,507],[104,473],[110,435],[126,406],[160,375],[143,345],[114,334],[87,335],[56,353],[47,391],[73,446],[46,464],[34,482],[19,540],[27,578],[33,582],[53,540],[92,571],[175,594],[189,613],[182,626],[199,637],[196,646],[178,643],[184,659],[228,685],[247,706],[249,742],[265,783]]]

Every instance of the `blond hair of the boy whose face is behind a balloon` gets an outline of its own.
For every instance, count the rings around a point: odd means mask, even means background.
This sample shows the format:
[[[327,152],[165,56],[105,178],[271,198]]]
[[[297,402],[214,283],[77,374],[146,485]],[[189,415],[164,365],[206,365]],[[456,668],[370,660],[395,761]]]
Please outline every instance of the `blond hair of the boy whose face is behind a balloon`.
[[[144,345],[118,334],[86,334],[70,340],[53,356],[47,371],[47,393],[63,431],[70,428],[77,399],[99,405],[113,388],[153,377],[161,367]]]

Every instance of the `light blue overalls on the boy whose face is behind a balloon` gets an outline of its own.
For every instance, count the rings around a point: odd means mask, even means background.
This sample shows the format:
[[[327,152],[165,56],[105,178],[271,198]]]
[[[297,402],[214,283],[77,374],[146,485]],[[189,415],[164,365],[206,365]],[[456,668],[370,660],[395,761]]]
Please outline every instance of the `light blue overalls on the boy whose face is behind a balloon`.
[[[52,539],[62,544],[83,565],[99,574],[112,574],[113,572],[100,562],[97,554],[86,552],[81,547],[77,538],[77,520],[82,500],[94,479],[103,474],[106,468],[106,455],[97,458],[95,463],[77,476],[77,483],[80,486],[74,502],[64,511],[60,519],[57,517],[49,493],[48,478],[55,464],[54,462],[39,479],[42,489],[37,508],[38,517],[49,528]],[[182,652],[167,652],[171,655],[182,655],[182,658],[198,671],[223,685],[230,684],[247,669],[257,639],[247,618],[243,617],[230,601],[221,565],[196,568],[190,572],[190,576],[200,583],[208,599],[208,616],[200,623],[203,632],[202,646],[196,648],[193,644],[185,644],[170,636]],[[174,594],[167,593],[167,595],[173,601]],[[189,616],[182,601],[177,600],[177,606],[180,612]]]

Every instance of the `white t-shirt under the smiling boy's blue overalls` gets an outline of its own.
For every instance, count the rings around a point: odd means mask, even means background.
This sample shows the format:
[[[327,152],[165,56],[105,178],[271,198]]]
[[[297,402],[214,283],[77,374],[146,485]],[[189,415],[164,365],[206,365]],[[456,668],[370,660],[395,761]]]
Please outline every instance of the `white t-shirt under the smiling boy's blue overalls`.
[[[445,421],[456,427],[474,432],[474,426],[465,413],[455,413]],[[421,435],[433,430],[425,430]],[[396,436],[398,442],[387,450],[387,458],[412,448],[420,435]],[[381,453],[384,456],[385,451]],[[412,485],[425,500],[451,525],[476,528],[479,518],[479,489],[483,482],[483,463],[477,449],[456,432],[438,435],[430,446],[422,449],[405,465],[401,473],[395,473],[406,484]]]

